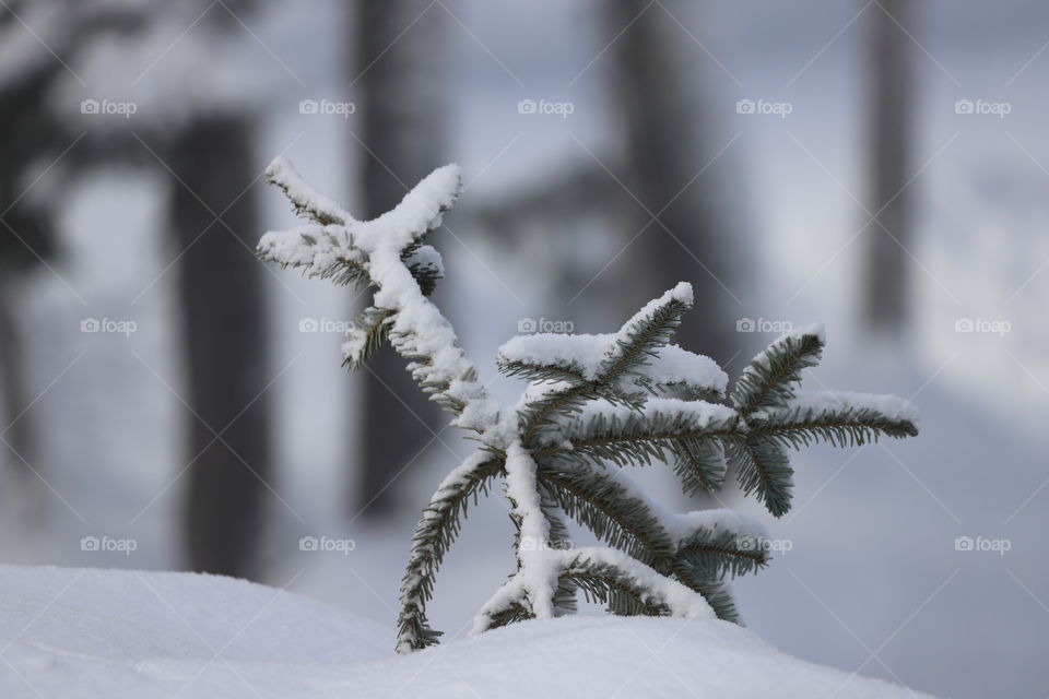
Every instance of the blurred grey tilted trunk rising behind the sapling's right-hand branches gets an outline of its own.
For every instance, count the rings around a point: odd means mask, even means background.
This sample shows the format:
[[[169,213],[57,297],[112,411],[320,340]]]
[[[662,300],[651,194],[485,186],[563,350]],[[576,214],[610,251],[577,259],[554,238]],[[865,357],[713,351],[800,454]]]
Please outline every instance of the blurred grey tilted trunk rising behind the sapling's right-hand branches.
[[[709,143],[703,114],[706,85],[702,71],[681,55],[684,33],[658,5],[646,9],[648,4],[610,0],[604,5],[611,36],[629,24],[612,45],[616,63],[610,73],[624,120],[621,179],[662,223],[652,222],[630,247],[629,274],[641,279],[620,285],[637,294],[624,308],[639,307],[655,289],[691,282],[696,305],[676,342],[724,362],[736,344],[732,337],[736,301],[722,287],[736,285],[726,250],[732,239],[719,232],[722,222],[710,198],[709,173],[682,192],[722,144]],[[638,212],[628,236],[651,218],[648,212]]]

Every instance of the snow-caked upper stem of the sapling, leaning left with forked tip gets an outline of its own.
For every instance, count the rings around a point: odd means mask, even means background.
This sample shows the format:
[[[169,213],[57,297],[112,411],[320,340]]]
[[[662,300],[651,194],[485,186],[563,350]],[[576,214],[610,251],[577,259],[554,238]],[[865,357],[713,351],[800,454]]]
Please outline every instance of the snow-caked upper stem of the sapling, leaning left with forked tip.
[[[286,161],[274,161],[267,173],[295,210],[316,223],[266,234],[259,257],[302,268],[307,276],[376,288],[373,309],[343,347],[346,362],[360,364],[388,339],[409,360],[423,390],[456,415],[457,425],[479,433],[495,428],[498,406],[478,381],[476,368],[459,347],[451,323],[424,294],[420,281],[426,270],[431,275],[434,269],[443,272],[436,251],[422,251],[423,240],[459,197],[458,166],[434,170],[394,209],[364,222],[317,193]]]

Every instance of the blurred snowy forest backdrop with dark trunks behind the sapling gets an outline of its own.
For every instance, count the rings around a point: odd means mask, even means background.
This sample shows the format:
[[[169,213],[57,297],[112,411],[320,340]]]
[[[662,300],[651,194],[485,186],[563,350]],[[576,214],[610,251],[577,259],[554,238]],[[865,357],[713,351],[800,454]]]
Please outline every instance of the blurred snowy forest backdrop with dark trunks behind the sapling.
[[[1036,0],[2,0],[0,556],[247,577],[392,629],[470,445],[396,357],[340,368],[354,294],[256,261],[294,222],[262,170],[366,217],[453,161],[437,297],[500,398],[519,323],[611,331],[686,280],[679,342],[730,376],[818,320],[809,388],[921,408],[918,439],[794,457],[779,521],[721,494],[779,544],[735,585],[750,628],[1044,696],[1047,47]],[[471,509],[437,628],[510,532]]]

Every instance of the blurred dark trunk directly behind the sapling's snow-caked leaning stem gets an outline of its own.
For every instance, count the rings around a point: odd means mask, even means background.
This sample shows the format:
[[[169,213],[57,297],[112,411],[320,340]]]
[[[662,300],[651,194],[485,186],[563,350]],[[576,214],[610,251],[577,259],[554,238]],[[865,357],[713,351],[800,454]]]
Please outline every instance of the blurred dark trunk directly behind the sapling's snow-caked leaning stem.
[[[394,206],[406,188],[443,164],[443,11],[426,10],[417,0],[355,7],[350,66],[358,78],[360,100],[350,126],[364,147],[355,139],[350,147],[353,162],[360,163],[361,214],[372,217]],[[437,410],[420,395],[404,360],[389,347],[368,363],[365,374],[352,509],[376,518],[394,506],[393,479],[431,441],[426,426],[435,427]]]

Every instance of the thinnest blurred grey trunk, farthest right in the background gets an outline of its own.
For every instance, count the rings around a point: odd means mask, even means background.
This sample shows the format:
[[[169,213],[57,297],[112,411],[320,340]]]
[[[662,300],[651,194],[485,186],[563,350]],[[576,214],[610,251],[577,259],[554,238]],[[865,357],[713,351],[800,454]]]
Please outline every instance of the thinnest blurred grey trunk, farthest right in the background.
[[[868,208],[876,216],[864,230],[862,297],[864,317],[876,332],[889,334],[905,329],[910,293],[905,248],[912,236],[905,187],[912,142],[912,61],[911,40],[900,25],[914,34],[911,10],[910,0],[883,0],[870,8]]]

